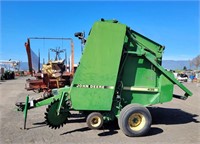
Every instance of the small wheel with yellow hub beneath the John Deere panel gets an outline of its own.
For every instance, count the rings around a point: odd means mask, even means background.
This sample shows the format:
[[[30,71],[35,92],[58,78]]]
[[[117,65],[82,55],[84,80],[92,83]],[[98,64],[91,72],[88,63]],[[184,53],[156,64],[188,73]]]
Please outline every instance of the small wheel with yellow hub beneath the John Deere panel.
[[[99,112],[92,112],[87,116],[86,123],[90,129],[100,129],[103,126],[103,116]]]

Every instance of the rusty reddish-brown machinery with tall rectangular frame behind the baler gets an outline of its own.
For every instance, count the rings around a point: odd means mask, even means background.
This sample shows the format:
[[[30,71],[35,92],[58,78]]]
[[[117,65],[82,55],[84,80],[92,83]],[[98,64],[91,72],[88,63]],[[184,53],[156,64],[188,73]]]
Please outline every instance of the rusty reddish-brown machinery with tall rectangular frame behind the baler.
[[[31,58],[31,48],[30,48],[30,39],[56,39],[56,40],[70,40],[71,42],[71,64],[69,67],[65,66],[65,59],[60,60],[56,59],[54,61],[49,60],[47,64],[44,64],[42,71],[35,73],[32,67],[32,58]],[[33,90],[36,92],[41,92],[47,89],[60,88],[65,85],[70,85],[73,75],[74,75],[74,44],[71,38],[28,38],[25,43],[27,55],[28,55],[28,64],[29,72],[34,79],[27,79],[25,88],[27,90]],[[54,50],[54,49],[53,49]],[[55,52],[55,50],[54,50]],[[63,52],[57,50],[56,52]],[[40,63],[38,64],[39,67]],[[40,68],[38,68],[40,70]]]

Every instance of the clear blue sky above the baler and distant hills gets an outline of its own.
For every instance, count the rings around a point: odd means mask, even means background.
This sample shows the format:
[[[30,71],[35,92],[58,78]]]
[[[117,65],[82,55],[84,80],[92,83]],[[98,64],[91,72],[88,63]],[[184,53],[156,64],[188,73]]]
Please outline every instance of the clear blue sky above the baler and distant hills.
[[[81,56],[74,33],[101,18],[117,19],[133,30],[165,45],[163,59],[189,60],[200,54],[199,1],[1,1],[0,59],[27,61],[28,37],[70,37],[75,62]],[[47,60],[49,48],[68,49],[69,42],[32,40],[35,53]]]

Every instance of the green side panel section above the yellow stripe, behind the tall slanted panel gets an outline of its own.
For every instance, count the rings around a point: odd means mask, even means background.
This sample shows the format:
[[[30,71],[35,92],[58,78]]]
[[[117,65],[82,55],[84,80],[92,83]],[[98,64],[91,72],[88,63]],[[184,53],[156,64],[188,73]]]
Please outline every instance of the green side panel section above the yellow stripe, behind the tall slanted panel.
[[[154,66],[144,57],[136,55],[129,55],[126,59],[122,77],[123,85],[128,87],[156,87],[157,84]]]

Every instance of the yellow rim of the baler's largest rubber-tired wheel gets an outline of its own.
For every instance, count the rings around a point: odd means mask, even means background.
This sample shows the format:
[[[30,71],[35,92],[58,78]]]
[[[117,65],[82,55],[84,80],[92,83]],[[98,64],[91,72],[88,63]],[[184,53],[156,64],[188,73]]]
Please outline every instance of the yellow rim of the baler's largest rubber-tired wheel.
[[[144,128],[145,123],[146,119],[141,113],[134,113],[128,119],[128,125],[134,131],[139,131]]]

